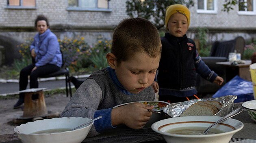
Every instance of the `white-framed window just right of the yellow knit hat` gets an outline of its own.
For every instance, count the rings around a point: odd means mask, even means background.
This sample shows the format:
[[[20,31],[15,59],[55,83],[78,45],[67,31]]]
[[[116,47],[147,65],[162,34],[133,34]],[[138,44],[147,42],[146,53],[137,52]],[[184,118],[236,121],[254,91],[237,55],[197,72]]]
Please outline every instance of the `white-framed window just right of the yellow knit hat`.
[[[217,13],[217,0],[197,0],[197,13]]]

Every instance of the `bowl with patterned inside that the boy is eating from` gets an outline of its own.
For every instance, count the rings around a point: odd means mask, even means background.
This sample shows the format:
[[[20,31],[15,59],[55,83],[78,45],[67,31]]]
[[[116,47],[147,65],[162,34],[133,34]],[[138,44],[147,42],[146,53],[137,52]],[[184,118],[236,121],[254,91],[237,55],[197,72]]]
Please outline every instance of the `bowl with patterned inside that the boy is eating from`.
[[[143,128],[151,128],[151,125],[154,122],[157,122],[159,120],[163,120],[163,116],[165,115],[165,113],[163,112],[163,109],[164,109],[165,106],[170,104],[170,103],[165,102],[165,101],[138,101],[138,102],[142,103],[142,104],[154,105],[153,110],[161,112],[161,114],[152,113],[152,116],[150,117],[150,120],[145,124],[145,126]],[[130,102],[130,103],[135,103],[135,102]],[[124,106],[124,105],[130,104],[130,103],[120,104],[120,105],[117,105],[115,107]],[[113,108],[115,108],[115,107],[113,107]]]

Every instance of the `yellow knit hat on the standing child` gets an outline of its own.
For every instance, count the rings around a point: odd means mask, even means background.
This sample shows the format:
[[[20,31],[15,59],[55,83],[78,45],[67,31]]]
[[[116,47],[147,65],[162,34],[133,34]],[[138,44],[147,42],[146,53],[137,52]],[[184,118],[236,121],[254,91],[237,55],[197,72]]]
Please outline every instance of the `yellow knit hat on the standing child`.
[[[174,13],[180,13],[182,15],[185,15],[188,20],[188,28],[190,23],[190,11],[189,8],[187,8],[184,5],[181,4],[173,4],[167,7],[166,13],[165,13],[165,28],[167,29],[168,21]]]

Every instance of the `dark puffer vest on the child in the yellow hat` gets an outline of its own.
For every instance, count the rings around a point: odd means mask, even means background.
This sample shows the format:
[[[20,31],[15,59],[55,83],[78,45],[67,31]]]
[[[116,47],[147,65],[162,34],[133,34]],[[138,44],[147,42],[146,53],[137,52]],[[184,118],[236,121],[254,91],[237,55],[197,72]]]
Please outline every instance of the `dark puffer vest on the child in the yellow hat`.
[[[195,42],[186,35],[177,38],[169,33],[161,37],[161,41],[163,48],[157,76],[159,86],[178,90],[196,86]]]

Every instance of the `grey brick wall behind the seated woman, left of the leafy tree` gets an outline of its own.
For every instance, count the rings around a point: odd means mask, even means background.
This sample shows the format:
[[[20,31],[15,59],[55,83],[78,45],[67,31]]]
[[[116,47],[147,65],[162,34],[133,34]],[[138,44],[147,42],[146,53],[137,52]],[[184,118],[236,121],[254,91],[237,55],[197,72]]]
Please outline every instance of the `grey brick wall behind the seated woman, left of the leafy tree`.
[[[67,11],[67,0],[36,0],[35,9],[8,9],[7,0],[0,1],[0,27],[34,26],[39,14],[46,15],[50,25],[70,26],[113,26],[117,25],[126,15],[125,0],[111,0],[109,7],[112,12]]]

